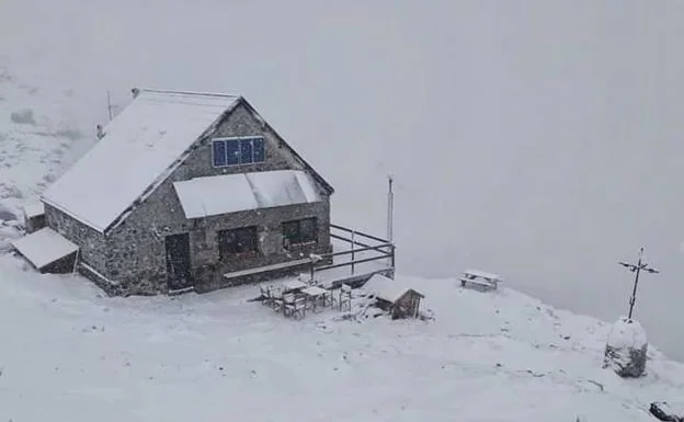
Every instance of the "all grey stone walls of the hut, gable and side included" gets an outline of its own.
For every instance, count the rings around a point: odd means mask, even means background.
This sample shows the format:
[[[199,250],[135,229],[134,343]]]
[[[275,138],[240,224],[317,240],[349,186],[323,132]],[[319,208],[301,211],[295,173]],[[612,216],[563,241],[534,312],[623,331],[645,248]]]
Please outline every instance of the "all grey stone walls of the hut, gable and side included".
[[[264,137],[265,161],[215,168],[212,138],[235,136]],[[258,281],[264,276],[242,276],[230,282],[223,274],[292,261],[309,253],[331,252],[330,198],[321,187],[322,201],[258,210],[244,210],[189,220],[173,189],[173,182],[200,176],[271,170],[306,170],[306,164],[283,145],[278,136],[244,105],[238,105],[221,122],[210,138],[197,141],[194,149],[149,196],[106,236],[46,205],[47,225],[81,247],[81,260],[92,267],[84,274],[114,295],[147,295],[168,292],[166,237],[190,236],[191,275],[195,289],[210,290],[227,285]],[[282,223],[317,219],[316,243],[285,250]],[[219,260],[219,230],[258,227],[259,250],[251,256]],[[290,271],[303,270],[289,269]],[[280,274],[266,274],[273,277]]]

